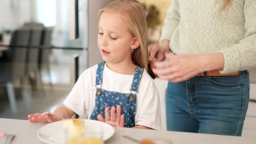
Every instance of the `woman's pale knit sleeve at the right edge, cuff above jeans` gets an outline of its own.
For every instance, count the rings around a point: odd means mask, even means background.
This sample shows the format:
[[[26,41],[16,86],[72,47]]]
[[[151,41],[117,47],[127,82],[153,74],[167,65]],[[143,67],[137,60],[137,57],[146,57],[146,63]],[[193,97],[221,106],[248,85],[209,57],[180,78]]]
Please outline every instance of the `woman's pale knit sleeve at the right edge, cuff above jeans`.
[[[256,13],[255,0],[245,0],[245,36],[238,44],[220,49],[224,56],[224,69],[221,74],[235,73],[256,67]]]

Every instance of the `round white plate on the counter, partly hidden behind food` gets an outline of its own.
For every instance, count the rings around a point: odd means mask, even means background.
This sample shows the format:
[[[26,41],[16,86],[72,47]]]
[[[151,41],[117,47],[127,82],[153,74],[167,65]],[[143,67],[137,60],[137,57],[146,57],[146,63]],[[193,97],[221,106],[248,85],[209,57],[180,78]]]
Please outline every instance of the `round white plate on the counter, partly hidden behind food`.
[[[115,132],[114,128],[100,121],[95,121],[91,119],[83,119],[85,121],[86,129],[93,129],[95,125],[101,125],[103,129],[103,141],[108,140]],[[44,125],[37,131],[37,137],[39,140],[45,143],[65,143],[64,134],[64,123],[65,121],[58,121]]]

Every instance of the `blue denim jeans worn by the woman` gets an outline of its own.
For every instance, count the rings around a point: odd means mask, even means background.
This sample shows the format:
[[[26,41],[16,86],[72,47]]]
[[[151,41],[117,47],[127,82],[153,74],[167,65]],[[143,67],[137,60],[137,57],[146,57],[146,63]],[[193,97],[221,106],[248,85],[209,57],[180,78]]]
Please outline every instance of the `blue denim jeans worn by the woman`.
[[[167,130],[241,136],[249,101],[249,73],[202,76],[168,83]]]

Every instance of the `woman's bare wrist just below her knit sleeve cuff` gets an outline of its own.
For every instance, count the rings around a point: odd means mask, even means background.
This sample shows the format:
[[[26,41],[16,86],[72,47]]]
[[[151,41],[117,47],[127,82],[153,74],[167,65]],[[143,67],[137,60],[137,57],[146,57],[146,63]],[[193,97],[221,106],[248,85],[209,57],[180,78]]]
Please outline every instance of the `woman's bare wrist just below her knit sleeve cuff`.
[[[224,57],[222,53],[208,53],[200,55],[202,71],[223,70]]]

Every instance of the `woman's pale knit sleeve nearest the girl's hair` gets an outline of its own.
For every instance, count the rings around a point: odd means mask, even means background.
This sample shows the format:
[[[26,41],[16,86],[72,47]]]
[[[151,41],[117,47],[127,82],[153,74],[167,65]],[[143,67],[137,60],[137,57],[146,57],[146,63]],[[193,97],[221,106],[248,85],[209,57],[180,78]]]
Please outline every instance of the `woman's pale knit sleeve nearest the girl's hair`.
[[[171,39],[173,31],[177,28],[179,24],[179,3],[178,0],[172,0],[170,7],[167,10],[167,15],[164,21],[164,26],[162,27],[162,35],[160,38],[160,43],[162,40]]]

